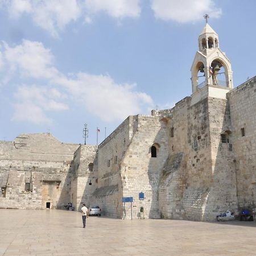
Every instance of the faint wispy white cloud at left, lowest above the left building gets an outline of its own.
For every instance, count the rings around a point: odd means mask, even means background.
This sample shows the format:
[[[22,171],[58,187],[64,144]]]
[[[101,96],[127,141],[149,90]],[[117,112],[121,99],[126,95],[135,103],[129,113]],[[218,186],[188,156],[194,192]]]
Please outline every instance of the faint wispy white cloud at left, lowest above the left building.
[[[55,97],[61,98],[60,92],[42,86],[19,86],[14,97],[15,121],[27,121],[31,123],[51,124],[52,119],[47,117],[48,112],[67,110],[68,106],[56,101]]]

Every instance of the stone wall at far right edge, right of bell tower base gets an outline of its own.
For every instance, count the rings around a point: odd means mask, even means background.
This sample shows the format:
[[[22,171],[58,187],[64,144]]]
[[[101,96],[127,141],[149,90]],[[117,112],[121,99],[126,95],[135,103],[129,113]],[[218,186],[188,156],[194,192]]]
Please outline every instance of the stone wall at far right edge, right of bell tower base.
[[[256,213],[256,77],[228,93],[238,208]],[[241,129],[245,130],[242,136]]]

